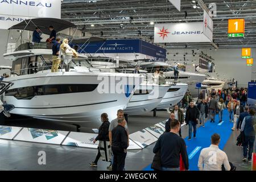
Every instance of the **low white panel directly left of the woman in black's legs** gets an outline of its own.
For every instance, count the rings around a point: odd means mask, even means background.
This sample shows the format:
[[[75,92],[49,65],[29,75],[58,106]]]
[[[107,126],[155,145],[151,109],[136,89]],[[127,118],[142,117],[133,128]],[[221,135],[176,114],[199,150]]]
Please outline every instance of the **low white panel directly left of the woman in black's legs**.
[[[62,144],[65,146],[97,148],[98,141],[93,143],[93,140],[97,137],[97,135],[98,134],[93,133],[71,132]]]

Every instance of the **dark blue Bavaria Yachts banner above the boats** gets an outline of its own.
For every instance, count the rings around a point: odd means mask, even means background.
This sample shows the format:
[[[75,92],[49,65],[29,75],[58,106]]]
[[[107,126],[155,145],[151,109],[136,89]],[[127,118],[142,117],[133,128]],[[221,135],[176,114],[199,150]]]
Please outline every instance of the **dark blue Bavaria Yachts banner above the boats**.
[[[140,39],[106,40],[78,46],[79,53],[142,53],[156,58],[166,58],[166,49]]]

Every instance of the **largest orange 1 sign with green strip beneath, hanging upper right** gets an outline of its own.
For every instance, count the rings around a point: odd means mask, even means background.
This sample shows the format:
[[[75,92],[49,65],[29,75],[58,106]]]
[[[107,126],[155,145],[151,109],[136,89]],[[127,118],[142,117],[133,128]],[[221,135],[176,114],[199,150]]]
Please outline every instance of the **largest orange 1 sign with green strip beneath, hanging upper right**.
[[[243,37],[245,34],[245,19],[228,20],[228,37]]]

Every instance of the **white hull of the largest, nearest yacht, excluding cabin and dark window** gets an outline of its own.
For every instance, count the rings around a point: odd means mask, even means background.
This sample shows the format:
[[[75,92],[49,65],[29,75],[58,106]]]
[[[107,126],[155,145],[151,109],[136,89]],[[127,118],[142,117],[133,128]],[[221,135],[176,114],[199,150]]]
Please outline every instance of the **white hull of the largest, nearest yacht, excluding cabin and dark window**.
[[[109,89],[115,89],[117,82],[127,78],[133,79],[137,85],[131,85],[129,93],[125,93],[125,90],[122,90],[121,93],[115,92],[115,90],[110,90],[110,93],[101,93],[102,78],[112,79],[112,82],[107,85]],[[116,117],[118,109],[126,108],[134,90],[141,84],[143,78],[138,75],[124,73],[57,72],[14,76],[6,78],[5,81],[14,83],[10,89],[40,85],[99,84],[92,92],[38,95],[29,100],[8,96],[7,92],[3,100],[7,104],[15,106],[11,114],[48,121],[100,123],[102,113],[107,113],[110,120]],[[127,91],[127,86],[122,86]]]

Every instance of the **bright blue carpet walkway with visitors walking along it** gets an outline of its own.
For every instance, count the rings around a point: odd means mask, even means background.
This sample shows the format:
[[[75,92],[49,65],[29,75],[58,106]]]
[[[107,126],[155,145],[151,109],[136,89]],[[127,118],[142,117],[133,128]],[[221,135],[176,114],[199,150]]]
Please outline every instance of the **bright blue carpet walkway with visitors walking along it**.
[[[203,148],[210,146],[210,137],[212,134],[217,133],[221,136],[221,142],[219,148],[223,150],[226,142],[232,134],[231,128],[233,123],[229,122],[228,110],[224,110],[224,117],[222,118],[224,122],[218,123],[218,115],[215,117],[215,123],[210,123],[209,121],[205,123],[205,127],[199,127],[197,129],[196,138],[188,140],[188,137],[185,138],[185,143],[187,144],[187,152],[189,158],[189,170],[197,171],[197,163],[199,159],[200,152]],[[193,131],[192,131],[193,135]],[[148,165],[143,171],[152,171],[151,164]]]

